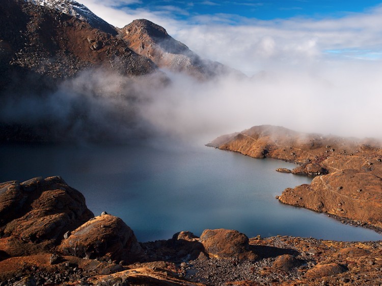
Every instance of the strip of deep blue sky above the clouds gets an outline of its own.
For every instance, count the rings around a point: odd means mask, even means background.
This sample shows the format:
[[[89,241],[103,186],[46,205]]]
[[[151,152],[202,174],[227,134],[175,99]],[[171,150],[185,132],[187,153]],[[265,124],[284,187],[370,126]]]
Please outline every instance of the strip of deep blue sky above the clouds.
[[[130,4],[129,4],[130,3]],[[176,1],[142,0],[115,2],[115,7],[167,11],[172,17],[181,20],[200,15],[236,15],[260,20],[285,19],[291,17],[343,17],[349,13],[364,12],[380,4],[376,0],[258,0],[258,1]],[[225,17],[222,17],[225,18]],[[233,19],[235,19],[233,17]],[[237,19],[237,18],[236,18]]]

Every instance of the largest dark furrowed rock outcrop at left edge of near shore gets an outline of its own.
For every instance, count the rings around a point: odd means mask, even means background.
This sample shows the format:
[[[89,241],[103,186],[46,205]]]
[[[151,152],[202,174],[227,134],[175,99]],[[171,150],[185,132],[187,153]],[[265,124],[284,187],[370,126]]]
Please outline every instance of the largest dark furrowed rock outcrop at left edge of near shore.
[[[0,250],[10,256],[52,249],[91,217],[84,196],[61,177],[0,184]]]

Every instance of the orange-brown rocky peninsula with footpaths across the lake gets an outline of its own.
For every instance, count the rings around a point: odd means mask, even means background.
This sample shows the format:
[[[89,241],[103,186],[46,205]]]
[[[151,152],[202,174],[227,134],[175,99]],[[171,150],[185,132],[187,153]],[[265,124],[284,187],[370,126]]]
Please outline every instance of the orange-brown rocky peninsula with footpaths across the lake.
[[[298,166],[292,171],[279,171],[316,177],[311,184],[285,189],[278,197],[281,202],[382,230],[379,141],[302,134],[262,125],[217,138],[208,145],[255,158],[296,163]]]

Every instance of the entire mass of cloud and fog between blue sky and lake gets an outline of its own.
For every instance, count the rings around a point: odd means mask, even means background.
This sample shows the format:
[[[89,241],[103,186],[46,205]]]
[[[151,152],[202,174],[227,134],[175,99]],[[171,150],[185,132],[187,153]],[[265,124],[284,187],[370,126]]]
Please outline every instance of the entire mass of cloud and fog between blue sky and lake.
[[[105,71],[84,72],[40,99],[28,94],[0,107],[7,122],[53,122],[57,136],[79,139],[166,134],[208,142],[259,124],[302,132],[380,137],[382,8],[339,18],[260,21],[174,20],[82,1],[116,26],[148,18],[201,56],[248,78],[200,82],[167,73],[168,85],[132,81]],[[107,6],[107,7],[106,7]],[[113,14],[114,13],[114,14]],[[138,132],[138,133],[137,133]]]

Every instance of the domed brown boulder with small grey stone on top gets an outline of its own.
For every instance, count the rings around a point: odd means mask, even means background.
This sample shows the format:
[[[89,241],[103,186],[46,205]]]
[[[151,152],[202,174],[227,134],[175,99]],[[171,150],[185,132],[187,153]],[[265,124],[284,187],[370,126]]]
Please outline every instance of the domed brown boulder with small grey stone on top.
[[[132,263],[144,257],[133,231],[119,217],[104,214],[87,221],[62,241],[58,250],[79,258]]]

